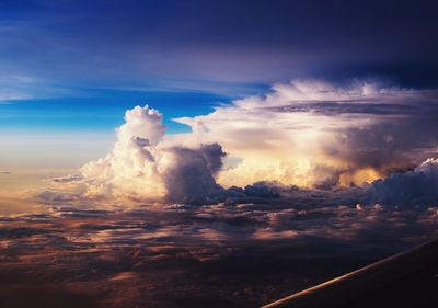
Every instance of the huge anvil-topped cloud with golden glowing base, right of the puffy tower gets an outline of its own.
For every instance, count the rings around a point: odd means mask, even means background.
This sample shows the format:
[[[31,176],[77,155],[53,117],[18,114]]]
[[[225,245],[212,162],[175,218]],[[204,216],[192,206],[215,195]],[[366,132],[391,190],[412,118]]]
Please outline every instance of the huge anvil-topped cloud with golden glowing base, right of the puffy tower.
[[[437,155],[436,91],[295,80],[176,121],[228,153],[218,182],[361,185]],[[196,134],[195,134],[196,133]]]

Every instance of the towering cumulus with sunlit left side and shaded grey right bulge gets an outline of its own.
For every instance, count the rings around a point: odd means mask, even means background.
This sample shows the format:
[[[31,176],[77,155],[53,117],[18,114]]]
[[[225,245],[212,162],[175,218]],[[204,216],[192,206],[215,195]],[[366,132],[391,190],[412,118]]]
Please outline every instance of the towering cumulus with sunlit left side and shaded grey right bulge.
[[[221,190],[215,181],[224,157],[218,144],[163,141],[162,115],[149,106],[127,111],[125,121],[112,152],[82,167],[85,195],[198,202]]]

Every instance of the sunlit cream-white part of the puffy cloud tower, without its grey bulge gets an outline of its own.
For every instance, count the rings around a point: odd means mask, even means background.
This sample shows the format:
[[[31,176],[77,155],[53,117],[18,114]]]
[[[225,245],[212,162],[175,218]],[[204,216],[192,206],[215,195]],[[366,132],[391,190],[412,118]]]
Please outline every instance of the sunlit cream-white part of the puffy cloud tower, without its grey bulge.
[[[164,197],[164,151],[158,146],[164,136],[162,115],[148,106],[136,106],[125,114],[117,141],[105,157],[82,167],[88,195],[132,195]]]

